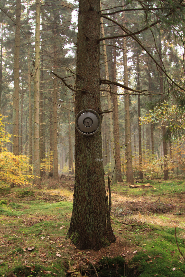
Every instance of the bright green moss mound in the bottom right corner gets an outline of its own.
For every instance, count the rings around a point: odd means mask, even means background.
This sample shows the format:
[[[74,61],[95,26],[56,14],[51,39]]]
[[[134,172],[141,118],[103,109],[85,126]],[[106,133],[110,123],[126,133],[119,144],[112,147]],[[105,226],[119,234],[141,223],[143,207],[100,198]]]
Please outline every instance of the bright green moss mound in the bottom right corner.
[[[179,229],[177,234],[182,253],[184,253],[185,245],[178,235],[183,231]],[[129,264],[137,268],[138,276],[185,276],[185,262],[176,244],[174,228],[155,229],[144,240],[142,238],[143,236],[135,237],[135,240],[143,247],[137,251]]]

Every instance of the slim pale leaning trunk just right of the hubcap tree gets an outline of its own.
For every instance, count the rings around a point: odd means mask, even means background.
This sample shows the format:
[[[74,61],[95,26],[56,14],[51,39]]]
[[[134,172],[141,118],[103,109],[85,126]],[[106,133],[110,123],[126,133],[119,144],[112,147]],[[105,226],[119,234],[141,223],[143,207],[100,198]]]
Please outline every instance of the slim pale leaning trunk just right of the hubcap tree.
[[[100,30],[105,37],[104,33],[104,27],[103,27],[103,18],[100,18]],[[109,72],[108,72],[108,61],[107,61],[107,50],[106,50],[106,42],[105,40],[102,41],[102,48],[103,48],[103,60],[104,60],[104,66],[105,66],[105,78],[109,79]],[[107,91],[107,104],[108,104],[108,109],[112,109],[112,103],[111,103],[111,94]],[[112,175],[112,183],[116,183],[117,178],[115,174],[115,157],[114,157],[114,134],[113,134],[113,119],[112,119],[112,113],[109,113],[109,136],[110,136],[110,147],[111,147],[111,175]]]

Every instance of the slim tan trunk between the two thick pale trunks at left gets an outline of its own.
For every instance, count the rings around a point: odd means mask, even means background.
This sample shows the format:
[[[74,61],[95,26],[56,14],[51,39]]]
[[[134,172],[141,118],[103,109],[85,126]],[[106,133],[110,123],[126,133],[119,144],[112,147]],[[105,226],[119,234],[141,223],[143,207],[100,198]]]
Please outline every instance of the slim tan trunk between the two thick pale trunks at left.
[[[29,156],[29,173],[32,169],[32,101],[31,101],[31,71],[30,71],[30,44],[28,43],[28,98],[29,98],[29,126],[28,126],[28,156]]]

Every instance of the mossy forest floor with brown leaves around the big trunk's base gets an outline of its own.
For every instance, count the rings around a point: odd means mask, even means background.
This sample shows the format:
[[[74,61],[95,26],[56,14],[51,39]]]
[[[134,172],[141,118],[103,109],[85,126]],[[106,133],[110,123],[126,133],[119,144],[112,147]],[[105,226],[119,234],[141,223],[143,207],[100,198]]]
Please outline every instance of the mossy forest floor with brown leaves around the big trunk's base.
[[[78,250],[65,239],[73,176],[45,179],[42,188],[1,188],[0,276],[185,276],[184,179],[145,178],[137,185],[111,185],[116,242],[98,251]]]

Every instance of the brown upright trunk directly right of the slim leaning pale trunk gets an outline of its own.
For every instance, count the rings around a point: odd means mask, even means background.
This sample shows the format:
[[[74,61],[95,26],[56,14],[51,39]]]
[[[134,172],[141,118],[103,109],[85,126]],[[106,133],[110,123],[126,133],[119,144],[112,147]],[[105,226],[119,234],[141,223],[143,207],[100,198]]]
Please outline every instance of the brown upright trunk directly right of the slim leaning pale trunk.
[[[115,40],[113,42],[115,46]],[[114,82],[117,81],[116,79],[116,48],[113,47],[113,78]],[[117,86],[112,85],[112,91],[117,93]],[[113,94],[112,97],[113,103],[113,119],[114,119],[114,144],[115,144],[115,173],[118,182],[123,182],[121,177],[121,155],[120,155],[120,134],[119,134],[119,117],[118,117],[118,96]]]

